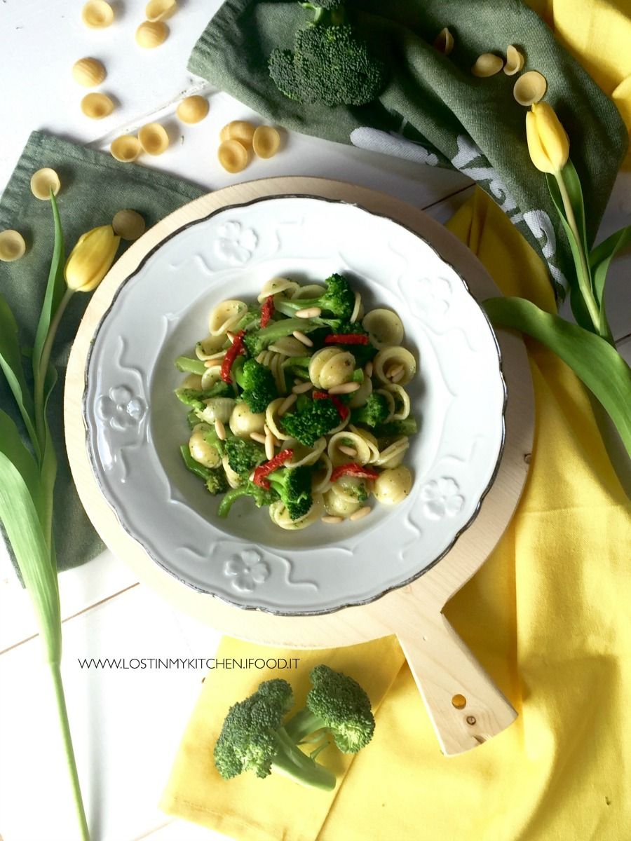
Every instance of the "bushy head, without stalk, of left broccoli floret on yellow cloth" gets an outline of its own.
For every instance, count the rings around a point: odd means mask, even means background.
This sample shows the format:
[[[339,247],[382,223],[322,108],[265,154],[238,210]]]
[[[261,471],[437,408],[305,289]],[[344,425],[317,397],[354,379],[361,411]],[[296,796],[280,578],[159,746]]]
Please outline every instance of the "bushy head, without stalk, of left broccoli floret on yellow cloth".
[[[267,777],[278,752],[276,731],[293,703],[286,680],[267,680],[231,706],[215,744],[215,766],[225,780],[244,771]]]

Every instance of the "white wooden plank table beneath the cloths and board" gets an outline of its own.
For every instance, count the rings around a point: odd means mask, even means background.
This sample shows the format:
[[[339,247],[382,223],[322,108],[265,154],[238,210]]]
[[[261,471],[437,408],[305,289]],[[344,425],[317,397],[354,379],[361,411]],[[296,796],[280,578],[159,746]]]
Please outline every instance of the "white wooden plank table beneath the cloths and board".
[[[109,29],[86,29],[82,3],[68,0],[2,0],[0,3],[0,190],[34,129],[45,129],[107,149],[112,136],[151,119],[167,126],[174,141],[151,166],[213,190],[252,178],[318,175],[377,188],[427,209],[445,221],[471,192],[455,172],[422,167],[346,145],[290,135],[270,161],[253,161],[229,176],[215,158],[217,135],[231,119],[256,115],[186,71],[195,40],[219,0],[180,0],[160,48],[141,50],[134,33],[144,19],[144,0],[113,3]],[[103,61],[108,77],[100,89],[118,107],[95,122],[81,114],[86,93],[72,80],[72,63],[83,56]],[[204,122],[185,126],[174,117],[179,98],[204,93]],[[146,163],[146,159],[142,161]],[[149,165],[149,164],[147,164]],[[631,222],[631,175],[618,177],[602,236]],[[631,358],[631,313],[623,257],[609,281],[612,329]],[[628,288],[628,287],[627,287]],[[63,677],[77,765],[93,841],[195,841],[219,833],[174,821],[156,807],[183,727],[205,674],[199,669],[88,669],[84,659],[205,659],[220,635],[173,611],[111,553],[60,576],[64,634]],[[0,547],[0,838],[3,841],[71,841],[72,804],[28,596]]]

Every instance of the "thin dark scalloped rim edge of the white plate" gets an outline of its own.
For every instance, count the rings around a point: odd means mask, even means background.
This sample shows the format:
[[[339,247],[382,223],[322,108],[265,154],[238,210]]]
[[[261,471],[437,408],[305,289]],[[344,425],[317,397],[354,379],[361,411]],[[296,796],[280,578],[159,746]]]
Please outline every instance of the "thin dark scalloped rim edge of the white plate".
[[[343,183],[343,182],[339,182],[339,183]],[[181,577],[181,575],[177,574],[172,569],[169,569],[164,563],[162,563],[162,561],[159,558],[156,558],[155,555],[153,553],[151,553],[151,551],[146,547],[145,543],[140,539],[140,537],[138,537],[137,535],[132,533],[130,531],[130,529],[127,527],[127,525],[125,524],[125,522],[120,519],[119,511],[116,509],[116,507],[114,507],[112,502],[109,500],[108,495],[105,493],[105,490],[103,489],[103,484],[101,483],[98,472],[95,469],[95,463],[94,463],[92,448],[90,447],[89,436],[86,434],[85,440],[84,440],[84,449],[87,453],[87,460],[88,460],[88,463],[89,463],[89,466],[90,466],[90,470],[91,470],[93,479],[98,486],[99,494],[102,496],[103,500],[106,501],[107,505],[109,506],[109,509],[113,512],[113,514],[116,518],[116,521],[119,523],[119,526],[125,531],[125,533],[134,542],[136,542],[142,548],[142,550],[146,553],[146,555],[149,558],[151,558],[151,561],[153,563],[155,563],[156,566],[158,566],[164,572],[169,574],[173,579],[177,580],[180,584],[184,584],[188,588],[188,590],[193,590],[194,592],[199,593],[199,594],[203,594],[203,595],[213,596],[215,599],[219,599],[220,601],[224,602],[226,605],[231,606],[231,607],[236,607],[241,611],[257,611],[259,613],[265,613],[265,614],[268,614],[270,616],[282,616],[282,617],[286,617],[286,618],[292,618],[292,617],[297,618],[297,617],[302,617],[302,616],[326,616],[326,615],[330,615],[332,613],[336,613],[337,611],[346,610],[347,608],[350,608],[350,607],[360,607],[360,606],[366,606],[366,605],[372,604],[373,602],[382,599],[385,595],[388,595],[388,594],[390,594],[390,593],[392,593],[393,591],[396,591],[396,590],[402,590],[404,587],[409,586],[410,584],[413,584],[418,579],[421,579],[423,575],[425,575],[431,569],[436,567],[437,564],[440,563],[440,561],[442,561],[443,558],[445,558],[448,555],[448,553],[451,552],[454,545],[458,542],[459,538],[464,534],[464,532],[466,532],[470,528],[470,526],[472,526],[474,521],[479,516],[480,510],[481,510],[481,507],[482,507],[482,503],[485,500],[485,497],[489,494],[490,489],[495,484],[495,481],[497,479],[497,475],[500,471],[501,461],[502,461],[504,451],[505,451],[505,447],[506,447],[506,410],[507,410],[507,405],[508,405],[508,388],[507,388],[506,376],[505,376],[504,368],[503,368],[503,354],[502,354],[502,351],[501,351],[500,342],[497,339],[496,332],[495,332],[495,330],[493,329],[493,326],[490,323],[490,319],[489,319],[488,315],[486,314],[485,309],[482,307],[482,305],[475,298],[475,295],[471,292],[471,289],[469,288],[469,283],[467,283],[467,281],[465,280],[462,272],[459,271],[459,269],[453,265],[453,262],[451,262],[447,257],[444,257],[443,254],[440,251],[437,250],[437,246],[433,245],[432,242],[428,241],[427,237],[425,235],[420,234],[418,231],[414,230],[410,225],[406,225],[405,222],[401,222],[400,220],[393,219],[388,214],[380,213],[378,211],[371,210],[371,209],[368,209],[368,208],[364,207],[363,204],[361,204],[361,202],[359,202],[359,201],[349,201],[345,198],[331,198],[329,196],[317,195],[315,193],[294,193],[294,192],[291,192],[291,193],[273,193],[273,194],[268,194],[268,195],[256,196],[254,198],[249,198],[246,201],[242,201],[242,202],[233,202],[233,203],[230,203],[230,204],[224,204],[224,205],[221,205],[220,207],[218,207],[214,210],[211,210],[208,214],[204,214],[204,216],[200,216],[197,219],[189,220],[188,222],[185,222],[183,225],[180,225],[178,228],[176,228],[175,230],[172,230],[169,234],[164,236],[159,242],[156,243],[156,245],[151,246],[149,251],[147,251],[146,254],[141,258],[141,261],[138,262],[138,264],[135,266],[135,268],[129,274],[127,274],[125,276],[125,278],[123,278],[120,281],[120,283],[118,284],[117,288],[114,291],[114,294],[112,295],[112,299],[110,300],[109,305],[106,307],[106,309],[103,310],[103,314],[99,318],[98,323],[94,328],[92,339],[90,341],[90,344],[89,344],[89,347],[88,347],[88,350],[87,350],[86,361],[85,361],[85,365],[84,365],[84,368],[83,368],[83,390],[82,390],[82,396],[81,396],[81,417],[82,417],[82,423],[83,423],[83,426],[86,430],[86,433],[88,432],[88,430],[90,428],[90,425],[89,425],[88,419],[87,419],[87,392],[88,392],[88,380],[89,380],[88,371],[89,371],[91,361],[92,361],[93,350],[94,350],[94,347],[95,347],[95,344],[96,344],[98,334],[101,331],[104,322],[108,319],[111,310],[114,308],[114,306],[115,306],[115,304],[116,304],[116,302],[119,298],[119,294],[125,289],[127,283],[129,283],[130,280],[135,278],[135,276],[139,272],[141,272],[141,270],[145,267],[146,262],[148,262],[151,259],[151,257],[153,257],[156,254],[156,251],[159,251],[162,248],[162,246],[164,246],[168,241],[172,240],[173,237],[183,233],[183,231],[188,230],[189,228],[192,228],[195,225],[199,225],[200,223],[206,222],[206,221],[212,219],[214,216],[216,216],[218,214],[225,213],[225,212],[231,211],[233,209],[238,209],[238,208],[242,208],[242,207],[250,207],[253,204],[260,204],[262,202],[268,202],[268,201],[273,201],[273,200],[276,200],[276,199],[284,199],[284,198],[307,198],[307,199],[312,199],[312,200],[319,201],[319,202],[326,202],[327,204],[347,205],[347,206],[359,209],[359,210],[363,211],[363,213],[369,214],[370,216],[373,216],[375,218],[390,222],[390,224],[392,224],[392,225],[398,225],[400,228],[406,230],[409,234],[416,237],[416,239],[421,240],[427,247],[429,247],[433,251],[433,253],[445,265],[447,265],[449,268],[451,268],[451,270],[454,272],[454,274],[457,276],[457,278],[459,278],[460,283],[462,283],[463,286],[464,286],[465,292],[469,295],[469,297],[471,299],[473,299],[473,301],[475,303],[475,306],[478,309],[480,309],[480,312],[484,316],[486,326],[487,326],[488,330],[490,331],[490,336],[491,336],[491,338],[493,340],[493,344],[495,346],[495,351],[496,351],[496,356],[497,356],[497,366],[498,366],[497,367],[497,372],[499,373],[500,382],[501,382],[501,391],[502,391],[501,438],[500,438],[500,444],[499,444],[496,463],[494,465],[493,472],[491,473],[490,479],[489,479],[488,483],[485,485],[485,488],[482,490],[482,492],[480,494],[480,498],[476,501],[475,508],[474,508],[471,516],[469,517],[469,520],[466,521],[464,523],[464,525],[459,528],[459,531],[455,533],[452,541],[448,543],[448,546],[445,547],[443,552],[440,553],[437,556],[437,558],[433,558],[432,561],[430,561],[430,563],[427,563],[426,566],[424,566],[423,569],[421,569],[416,574],[413,574],[413,575],[409,576],[405,580],[400,581],[398,584],[391,584],[390,586],[386,587],[384,590],[380,590],[379,593],[369,596],[369,598],[367,598],[367,599],[352,600],[352,601],[348,601],[348,602],[345,602],[344,604],[337,605],[337,606],[334,606],[334,607],[321,609],[321,610],[313,610],[313,611],[307,611],[307,610],[285,611],[285,610],[276,610],[276,609],[273,609],[273,608],[268,607],[268,606],[245,605],[245,604],[242,604],[241,602],[231,600],[230,598],[227,598],[223,594],[215,593],[212,590],[209,590],[209,589],[204,588],[204,587],[200,587],[197,584],[193,584],[192,582],[188,581],[187,579],[183,579]],[[187,204],[192,204],[192,203],[187,203]],[[167,217],[165,217],[165,218],[167,218]]]

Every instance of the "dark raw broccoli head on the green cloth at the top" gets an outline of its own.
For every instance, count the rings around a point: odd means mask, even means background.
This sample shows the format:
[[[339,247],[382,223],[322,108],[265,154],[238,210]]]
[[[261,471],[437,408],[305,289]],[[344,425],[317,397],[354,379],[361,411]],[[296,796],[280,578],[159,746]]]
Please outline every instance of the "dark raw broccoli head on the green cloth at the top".
[[[353,26],[344,24],[339,3],[303,5],[315,9],[313,22],[295,34],[293,51],[276,49],[269,56],[269,75],[278,90],[302,103],[372,102],[386,81],[383,61],[370,53]]]

